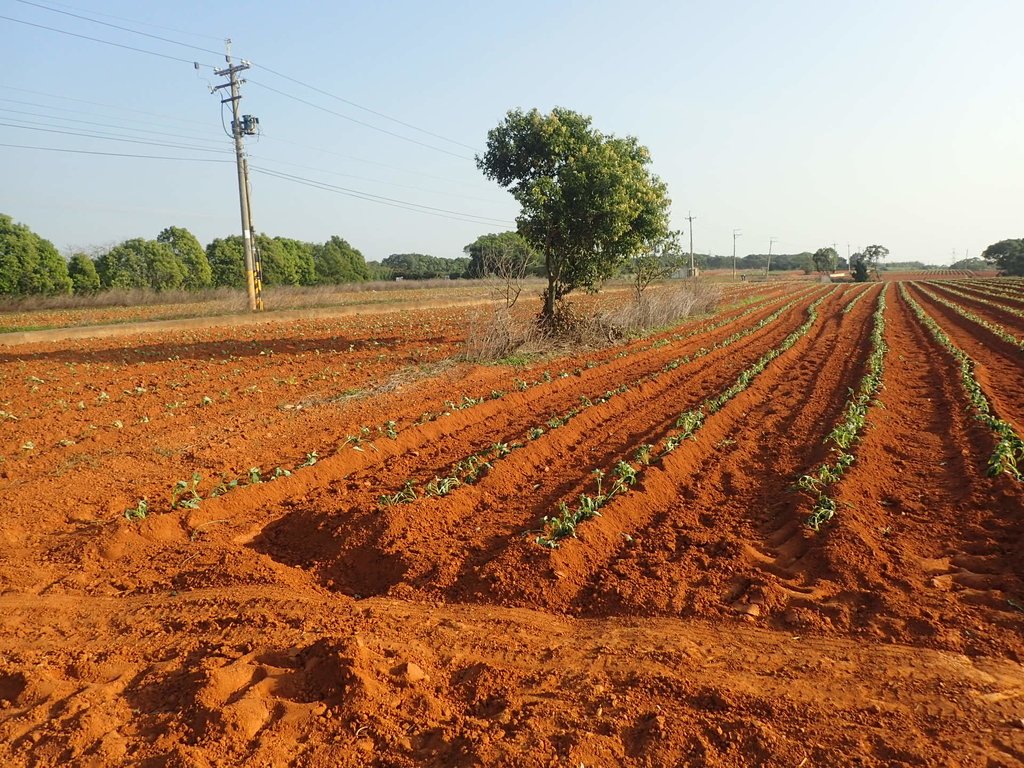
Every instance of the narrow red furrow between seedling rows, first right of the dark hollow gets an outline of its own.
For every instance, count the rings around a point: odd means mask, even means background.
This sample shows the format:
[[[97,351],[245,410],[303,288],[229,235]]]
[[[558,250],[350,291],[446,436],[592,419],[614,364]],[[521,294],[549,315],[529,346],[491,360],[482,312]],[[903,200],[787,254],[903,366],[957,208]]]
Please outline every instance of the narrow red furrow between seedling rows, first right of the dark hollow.
[[[554,512],[559,500],[571,500],[592,482],[592,468],[629,458],[637,444],[656,440],[680,411],[721,391],[801,324],[810,300],[734,347],[701,358],[685,373],[677,370],[586,410],[565,427],[496,464],[474,485],[444,499],[388,508],[379,546],[404,563],[395,581],[430,591],[456,585],[475,591],[476,571],[503,552],[510,540],[534,528],[540,515]],[[436,552],[438,540],[447,542],[440,557],[420,557],[421,551]]]

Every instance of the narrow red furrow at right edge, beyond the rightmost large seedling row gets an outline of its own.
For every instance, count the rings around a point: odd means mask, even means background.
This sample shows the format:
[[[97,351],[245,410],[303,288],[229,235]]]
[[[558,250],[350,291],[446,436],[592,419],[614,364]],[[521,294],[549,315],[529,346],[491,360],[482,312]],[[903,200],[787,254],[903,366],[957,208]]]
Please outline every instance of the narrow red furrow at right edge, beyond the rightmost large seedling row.
[[[953,310],[932,301],[911,283],[910,295],[975,361],[975,374],[1000,418],[1024,433],[1024,352]],[[979,312],[979,314],[981,314]]]

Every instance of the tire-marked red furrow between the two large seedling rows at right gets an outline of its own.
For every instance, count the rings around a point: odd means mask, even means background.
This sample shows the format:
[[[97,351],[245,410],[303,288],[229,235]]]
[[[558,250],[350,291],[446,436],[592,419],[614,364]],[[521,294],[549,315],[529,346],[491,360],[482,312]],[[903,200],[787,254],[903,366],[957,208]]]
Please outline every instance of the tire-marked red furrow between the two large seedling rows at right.
[[[1024,489],[985,474],[994,440],[970,413],[958,366],[895,288],[890,298],[884,407],[814,540],[819,594],[795,599],[785,618],[1013,656],[1024,623],[1007,598],[1024,598]]]

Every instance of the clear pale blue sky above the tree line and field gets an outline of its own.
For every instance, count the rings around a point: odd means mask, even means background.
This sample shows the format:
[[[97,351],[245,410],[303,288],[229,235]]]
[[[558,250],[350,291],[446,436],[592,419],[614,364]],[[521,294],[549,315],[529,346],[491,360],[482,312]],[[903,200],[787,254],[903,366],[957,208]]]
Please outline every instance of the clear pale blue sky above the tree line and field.
[[[458,256],[478,234],[513,228],[514,201],[462,144],[480,150],[514,106],[566,106],[637,136],[669,184],[674,224],[696,217],[697,251],[731,253],[740,228],[740,254],[777,238],[776,253],[835,242],[846,255],[847,244],[880,243],[893,260],[949,263],[953,249],[976,256],[1024,237],[1020,0],[38,1],[211,51],[231,37],[254,65],[243,111],[261,121],[249,144],[255,167],[495,219],[430,216],[254,174],[257,229],[337,233],[368,259]],[[0,15],[223,65],[16,0],[0,0]],[[232,157],[209,67],[6,19],[0,32],[0,143]],[[230,163],[0,147],[0,212],[60,249],[154,238],[171,224],[204,243],[240,230]]]

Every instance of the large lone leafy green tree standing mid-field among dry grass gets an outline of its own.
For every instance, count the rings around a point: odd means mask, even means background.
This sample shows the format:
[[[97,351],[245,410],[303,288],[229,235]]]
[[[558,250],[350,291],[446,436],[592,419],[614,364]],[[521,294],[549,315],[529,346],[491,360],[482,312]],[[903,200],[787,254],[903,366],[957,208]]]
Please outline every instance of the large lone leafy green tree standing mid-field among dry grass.
[[[668,189],[646,147],[570,110],[509,112],[476,163],[522,206],[519,233],[544,256],[547,323],[558,299],[596,288],[669,231]]]

